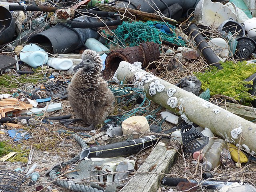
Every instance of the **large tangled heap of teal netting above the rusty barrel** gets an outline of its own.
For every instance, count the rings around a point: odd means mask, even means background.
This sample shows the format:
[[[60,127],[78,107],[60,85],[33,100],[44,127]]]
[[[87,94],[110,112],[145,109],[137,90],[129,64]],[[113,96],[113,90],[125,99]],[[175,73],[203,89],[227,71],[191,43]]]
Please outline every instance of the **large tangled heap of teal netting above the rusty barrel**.
[[[167,25],[170,32],[155,27],[156,24]],[[164,22],[147,21],[147,22],[123,22],[114,30],[113,42],[120,46],[138,46],[143,42],[155,42],[161,44],[161,40],[177,44],[178,46],[186,46],[186,42],[182,38],[177,37],[174,32],[175,26]]]

